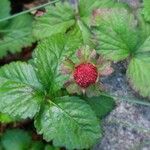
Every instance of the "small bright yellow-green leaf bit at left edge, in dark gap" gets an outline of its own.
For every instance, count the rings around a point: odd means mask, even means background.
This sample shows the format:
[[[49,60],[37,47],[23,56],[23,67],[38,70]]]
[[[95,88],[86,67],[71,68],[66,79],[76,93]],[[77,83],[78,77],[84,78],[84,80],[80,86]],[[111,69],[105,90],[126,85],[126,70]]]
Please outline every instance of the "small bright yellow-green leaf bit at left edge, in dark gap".
[[[10,117],[8,114],[0,113],[1,123],[10,123],[18,120],[18,118]]]

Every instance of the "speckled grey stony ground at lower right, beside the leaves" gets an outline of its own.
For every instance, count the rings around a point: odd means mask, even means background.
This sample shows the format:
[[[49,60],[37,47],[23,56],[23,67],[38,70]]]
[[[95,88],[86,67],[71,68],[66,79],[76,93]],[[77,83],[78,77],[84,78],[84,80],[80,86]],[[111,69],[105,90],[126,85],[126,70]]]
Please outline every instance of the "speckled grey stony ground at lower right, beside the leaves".
[[[113,64],[115,72],[103,78],[109,93],[118,97],[137,97],[125,76],[125,62]],[[94,150],[150,150],[150,107],[117,102],[117,107],[103,120],[104,137]]]

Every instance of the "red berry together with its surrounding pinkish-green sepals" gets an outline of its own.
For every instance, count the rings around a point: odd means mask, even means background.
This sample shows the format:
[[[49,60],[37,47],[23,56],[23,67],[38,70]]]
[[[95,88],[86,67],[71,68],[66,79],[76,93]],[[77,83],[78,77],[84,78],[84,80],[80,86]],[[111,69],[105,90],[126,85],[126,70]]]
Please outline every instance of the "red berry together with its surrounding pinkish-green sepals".
[[[66,58],[61,67],[62,74],[70,79],[66,82],[65,87],[70,94],[81,94],[89,92],[94,87],[103,89],[98,83],[100,76],[107,76],[113,72],[111,63],[99,56],[95,50],[90,50],[89,46],[77,50],[75,61]],[[92,91],[92,90],[90,90]]]

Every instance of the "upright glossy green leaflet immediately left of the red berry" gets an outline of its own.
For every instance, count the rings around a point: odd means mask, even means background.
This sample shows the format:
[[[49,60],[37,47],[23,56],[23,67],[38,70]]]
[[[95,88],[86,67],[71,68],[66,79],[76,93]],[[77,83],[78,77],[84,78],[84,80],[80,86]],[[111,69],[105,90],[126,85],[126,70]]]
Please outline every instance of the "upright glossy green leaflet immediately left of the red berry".
[[[38,77],[48,93],[55,93],[63,87],[67,76],[60,73],[61,63],[66,56],[70,58],[74,54],[81,45],[80,39],[80,34],[75,31],[68,35],[56,34],[39,43],[34,60]]]

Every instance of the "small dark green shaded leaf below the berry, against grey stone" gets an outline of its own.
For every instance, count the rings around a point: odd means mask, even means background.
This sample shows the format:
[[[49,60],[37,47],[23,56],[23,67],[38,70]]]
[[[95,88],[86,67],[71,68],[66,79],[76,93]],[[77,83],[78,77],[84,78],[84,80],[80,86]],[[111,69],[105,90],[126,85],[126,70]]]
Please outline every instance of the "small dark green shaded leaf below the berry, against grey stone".
[[[100,95],[98,97],[86,98],[86,101],[96,113],[97,117],[101,119],[115,107],[115,101],[109,96]]]

